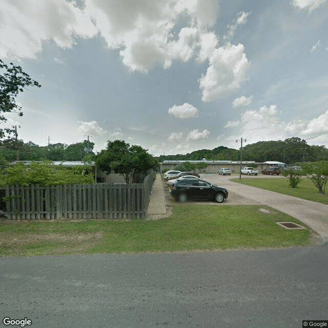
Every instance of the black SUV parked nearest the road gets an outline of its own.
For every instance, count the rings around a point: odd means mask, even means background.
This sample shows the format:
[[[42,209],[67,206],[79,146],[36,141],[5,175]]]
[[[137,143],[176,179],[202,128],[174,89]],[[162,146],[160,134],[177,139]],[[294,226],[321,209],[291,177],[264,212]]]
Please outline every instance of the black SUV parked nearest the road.
[[[216,186],[197,178],[181,179],[172,183],[170,195],[178,201],[209,199],[221,203],[228,198],[228,190],[225,187]]]

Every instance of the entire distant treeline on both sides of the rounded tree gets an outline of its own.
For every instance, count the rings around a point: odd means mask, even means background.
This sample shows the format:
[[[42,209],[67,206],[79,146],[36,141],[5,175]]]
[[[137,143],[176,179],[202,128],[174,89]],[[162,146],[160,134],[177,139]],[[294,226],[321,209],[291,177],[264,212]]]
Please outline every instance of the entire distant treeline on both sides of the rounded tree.
[[[38,146],[33,142],[23,140],[3,141],[0,146],[0,158],[9,162],[19,160],[83,160],[92,152],[94,143],[88,140],[76,144],[50,144]],[[89,148],[91,152],[85,150]],[[159,162],[164,160],[233,160],[240,159],[240,150],[224,146],[214,149],[201,149],[187,154],[160,155],[156,157]],[[277,160],[287,164],[301,161],[328,160],[328,149],[324,146],[309,146],[305,140],[292,137],[283,141],[259,141],[256,144],[244,144],[242,149],[243,160],[265,162]]]

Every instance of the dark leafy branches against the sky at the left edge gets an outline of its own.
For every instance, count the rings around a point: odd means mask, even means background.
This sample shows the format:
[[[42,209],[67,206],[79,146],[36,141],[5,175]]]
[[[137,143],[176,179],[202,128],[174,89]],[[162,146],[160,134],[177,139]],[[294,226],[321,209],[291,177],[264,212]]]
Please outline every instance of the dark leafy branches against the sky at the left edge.
[[[6,65],[0,59],[0,113],[16,112],[18,116],[23,116],[22,107],[16,104],[16,97],[29,86],[41,87],[37,81],[23,72],[22,67],[15,66],[13,63]],[[0,121],[6,122],[7,118],[0,114]],[[0,129],[0,139],[14,132],[15,129]]]

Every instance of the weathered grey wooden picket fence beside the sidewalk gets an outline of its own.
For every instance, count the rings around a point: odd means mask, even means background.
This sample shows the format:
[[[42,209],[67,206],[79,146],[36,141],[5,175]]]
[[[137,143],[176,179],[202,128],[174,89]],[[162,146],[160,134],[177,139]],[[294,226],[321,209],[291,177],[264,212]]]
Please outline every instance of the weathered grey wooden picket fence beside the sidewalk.
[[[6,186],[8,219],[144,218],[153,173],[144,183]]]

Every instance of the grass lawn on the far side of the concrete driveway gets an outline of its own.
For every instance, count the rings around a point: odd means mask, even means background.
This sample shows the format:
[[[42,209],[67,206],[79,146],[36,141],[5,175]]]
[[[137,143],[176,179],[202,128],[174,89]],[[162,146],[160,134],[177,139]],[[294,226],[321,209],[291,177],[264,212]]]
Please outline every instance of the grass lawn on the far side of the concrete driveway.
[[[275,191],[277,193],[290,195],[298,198],[308,199],[323,204],[328,204],[328,194],[319,195],[318,189],[308,178],[302,178],[297,188],[291,188],[288,178],[253,178],[253,179],[231,179],[231,181],[243,183],[253,187]]]

